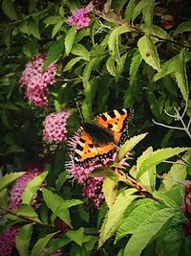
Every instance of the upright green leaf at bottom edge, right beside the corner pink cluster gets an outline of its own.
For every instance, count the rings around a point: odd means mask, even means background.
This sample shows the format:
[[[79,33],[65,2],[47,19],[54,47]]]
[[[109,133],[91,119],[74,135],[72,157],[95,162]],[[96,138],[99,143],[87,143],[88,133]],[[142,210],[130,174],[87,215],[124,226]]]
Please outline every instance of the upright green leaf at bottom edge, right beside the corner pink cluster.
[[[28,256],[28,247],[32,237],[32,224],[24,225],[16,234],[16,248],[20,256]]]

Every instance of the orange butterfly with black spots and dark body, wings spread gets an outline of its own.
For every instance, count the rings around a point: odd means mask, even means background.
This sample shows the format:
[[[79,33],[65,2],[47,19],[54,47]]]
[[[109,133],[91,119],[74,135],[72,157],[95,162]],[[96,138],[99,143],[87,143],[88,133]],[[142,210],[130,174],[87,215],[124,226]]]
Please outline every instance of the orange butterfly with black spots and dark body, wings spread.
[[[84,166],[90,161],[103,162],[111,157],[128,137],[128,123],[133,109],[122,108],[96,116],[92,123],[83,122],[74,149],[74,164]]]

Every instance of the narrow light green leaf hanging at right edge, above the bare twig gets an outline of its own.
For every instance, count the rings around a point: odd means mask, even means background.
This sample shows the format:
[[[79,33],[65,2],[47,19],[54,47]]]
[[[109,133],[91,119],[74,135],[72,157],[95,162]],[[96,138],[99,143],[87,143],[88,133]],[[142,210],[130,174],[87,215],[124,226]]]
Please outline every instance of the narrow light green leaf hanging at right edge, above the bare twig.
[[[180,87],[180,92],[185,101],[188,100],[188,81],[186,76],[184,53],[180,52],[179,58],[175,63],[175,77]]]

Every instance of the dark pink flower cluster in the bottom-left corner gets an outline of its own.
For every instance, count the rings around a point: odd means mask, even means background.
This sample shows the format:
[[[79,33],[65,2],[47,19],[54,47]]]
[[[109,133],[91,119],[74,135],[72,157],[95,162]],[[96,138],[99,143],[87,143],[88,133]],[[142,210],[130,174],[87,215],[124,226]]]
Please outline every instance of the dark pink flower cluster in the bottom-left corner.
[[[0,255],[11,256],[15,248],[15,236],[18,232],[18,227],[12,226],[0,235]]]

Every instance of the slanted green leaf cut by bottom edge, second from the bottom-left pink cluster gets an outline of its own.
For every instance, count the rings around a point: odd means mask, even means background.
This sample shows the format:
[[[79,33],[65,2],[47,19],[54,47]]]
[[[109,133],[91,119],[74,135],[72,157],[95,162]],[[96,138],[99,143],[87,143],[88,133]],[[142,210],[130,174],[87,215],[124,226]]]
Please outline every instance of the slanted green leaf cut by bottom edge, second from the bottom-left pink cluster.
[[[54,234],[55,233],[51,233],[51,234],[47,235],[44,238],[38,239],[36,244],[34,244],[33,247],[32,247],[31,256],[41,256],[43,251],[44,251],[44,248],[49,243],[49,241],[53,238]]]

